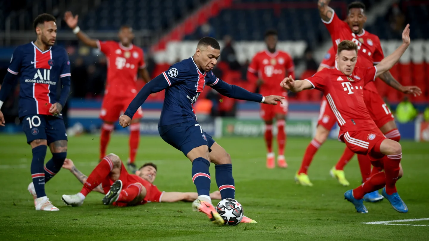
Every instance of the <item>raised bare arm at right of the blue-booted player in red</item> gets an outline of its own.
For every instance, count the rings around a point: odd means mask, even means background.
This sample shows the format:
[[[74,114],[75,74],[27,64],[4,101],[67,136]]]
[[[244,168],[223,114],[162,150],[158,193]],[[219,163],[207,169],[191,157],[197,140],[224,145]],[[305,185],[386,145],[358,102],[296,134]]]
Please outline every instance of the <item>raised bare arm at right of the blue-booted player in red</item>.
[[[408,46],[410,45],[410,24],[407,24],[404,31],[402,32],[402,45],[400,45],[392,54],[385,57],[378,63],[375,67],[377,68],[377,72],[375,73],[375,77],[380,76],[384,72],[388,71],[398,62],[399,58],[401,58],[402,54],[405,53]]]

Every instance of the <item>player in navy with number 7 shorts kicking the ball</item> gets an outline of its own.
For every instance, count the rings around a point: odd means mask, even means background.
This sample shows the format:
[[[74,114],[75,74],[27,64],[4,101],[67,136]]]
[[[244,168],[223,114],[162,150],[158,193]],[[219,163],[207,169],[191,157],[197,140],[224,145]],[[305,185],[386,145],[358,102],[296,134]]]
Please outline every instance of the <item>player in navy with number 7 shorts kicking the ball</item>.
[[[130,125],[134,113],[149,94],[165,89],[165,99],[158,124],[160,136],[165,142],[182,151],[192,162],[192,181],[198,192],[198,198],[192,203],[193,210],[207,214],[211,221],[222,225],[223,218],[211,204],[209,196],[211,179],[208,169],[210,162],[215,163],[216,183],[222,199],[235,199],[231,157],[203,131],[196,121],[193,104],[205,85],[230,98],[272,105],[276,105],[277,101],[281,102],[284,97],[263,97],[216,78],[211,70],[217,63],[220,49],[216,39],[211,37],[200,39],[193,57],[173,64],[139,91],[125,114],[119,118],[119,124],[122,127]]]

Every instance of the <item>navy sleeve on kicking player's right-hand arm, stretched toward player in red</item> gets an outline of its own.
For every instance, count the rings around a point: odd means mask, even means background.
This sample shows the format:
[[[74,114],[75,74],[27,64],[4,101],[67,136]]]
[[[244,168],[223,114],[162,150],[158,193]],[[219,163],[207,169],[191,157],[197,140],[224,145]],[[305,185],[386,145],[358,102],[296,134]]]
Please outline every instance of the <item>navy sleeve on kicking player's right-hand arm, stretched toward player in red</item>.
[[[207,73],[208,81],[207,86],[212,87],[218,91],[221,95],[233,98],[233,99],[243,99],[254,102],[262,102],[262,95],[257,93],[252,93],[248,90],[243,89],[242,87],[228,84],[225,81],[217,78],[213,72]]]

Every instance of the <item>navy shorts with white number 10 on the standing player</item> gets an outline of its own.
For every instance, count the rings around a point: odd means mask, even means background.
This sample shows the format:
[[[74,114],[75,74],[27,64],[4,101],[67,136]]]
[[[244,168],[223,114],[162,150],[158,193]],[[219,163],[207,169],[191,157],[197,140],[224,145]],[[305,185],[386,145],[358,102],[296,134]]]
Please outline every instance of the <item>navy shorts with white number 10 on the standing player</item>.
[[[30,114],[22,118],[22,130],[27,136],[27,143],[44,139],[48,145],[59,140],[67,140],[63,119],[45,114]]]

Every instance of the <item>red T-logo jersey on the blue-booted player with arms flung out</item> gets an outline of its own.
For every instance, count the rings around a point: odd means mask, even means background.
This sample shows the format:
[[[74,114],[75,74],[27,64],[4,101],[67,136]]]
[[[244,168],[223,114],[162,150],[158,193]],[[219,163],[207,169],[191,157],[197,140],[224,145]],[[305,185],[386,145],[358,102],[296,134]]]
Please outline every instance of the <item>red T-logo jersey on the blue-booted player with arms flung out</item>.
[[[363,101],[363,86],[374,81],[376,72],[375,66],[355,67],[346,76],[337,68],[326,68],[306,79],[326,96],[340,126],[339,136],[347,131],[377,128]]]

